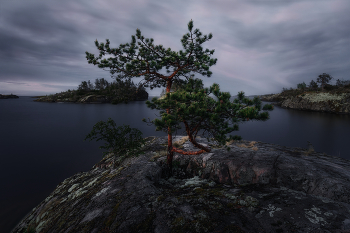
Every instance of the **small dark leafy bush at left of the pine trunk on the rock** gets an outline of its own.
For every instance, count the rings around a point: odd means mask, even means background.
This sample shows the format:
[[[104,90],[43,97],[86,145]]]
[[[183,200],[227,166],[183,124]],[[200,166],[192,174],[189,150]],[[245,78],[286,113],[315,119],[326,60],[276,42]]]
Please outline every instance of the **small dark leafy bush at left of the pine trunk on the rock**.
[[[112,149],[114,155],[136,155],[142,154],[140,149],[145,144],[145,139],[142,138],[142,132],[135,128],[130,128],[129,125],[123,124],[115,128],[116,124],[108,118],[107,122],[100,121],[96,123],[92,131],[86,136],[86,139],[105,140],[105,146],[100,146],[100,149]],[[119,132],[120,131],[120,132]],[[96,135],[100,135],[99,137]],[[104,152],[104,156],[109,152]]]

